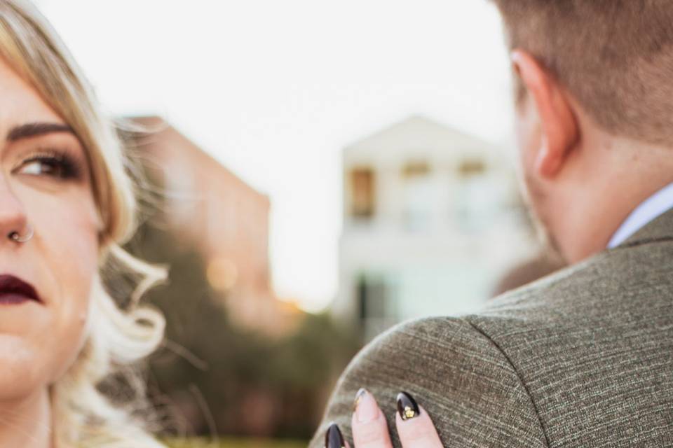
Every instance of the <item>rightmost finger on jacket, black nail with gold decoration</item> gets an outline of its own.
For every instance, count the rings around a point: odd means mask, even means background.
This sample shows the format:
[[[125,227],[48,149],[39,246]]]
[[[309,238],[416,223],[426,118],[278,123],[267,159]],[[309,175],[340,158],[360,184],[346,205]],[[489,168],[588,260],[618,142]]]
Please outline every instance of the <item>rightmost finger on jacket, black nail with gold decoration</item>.
[[[442,448],[430,415],[407,392],[397,395],[395,425],[403,448]]]

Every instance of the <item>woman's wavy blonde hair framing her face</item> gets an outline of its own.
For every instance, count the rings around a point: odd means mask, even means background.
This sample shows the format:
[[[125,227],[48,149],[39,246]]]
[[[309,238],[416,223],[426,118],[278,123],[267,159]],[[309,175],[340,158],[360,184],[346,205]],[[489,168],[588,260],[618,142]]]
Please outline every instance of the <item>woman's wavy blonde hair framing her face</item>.
[[[166,265],[150,265],[122,248],[137,230],[142,174],[132,164],[115,124],[97,103],[93,87],[41,13],[26,0],[0,0],[0,55],[73,128],[92,173],[100,223],[100,258],[90,296],[86,342],[73,365],[50,385],[53,440],[64,447],[164,447],[160,426],[138,368],[163,342],[165,319],[140,305],[142,294],[167,277]],[[135,179],[134,179],[135,178]],[[140,275],[130,305],[121,308],[104,288],[104,269]],[[121,376],[135,391],[112,400],[98,385]],[[142,418],[138,416],[142,414]]]

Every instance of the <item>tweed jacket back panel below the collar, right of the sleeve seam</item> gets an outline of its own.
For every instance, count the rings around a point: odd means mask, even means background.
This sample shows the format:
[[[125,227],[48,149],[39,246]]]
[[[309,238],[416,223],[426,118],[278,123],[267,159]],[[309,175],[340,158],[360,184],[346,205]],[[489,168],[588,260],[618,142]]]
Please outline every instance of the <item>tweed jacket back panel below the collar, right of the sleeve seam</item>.
[[[648,409],[673,403],[672,297],[673,241],[657,241],[603,251],[463,318],[509,360],[546,437],[588,446],[615,443],[619,428],[670,427],[669,410]]]

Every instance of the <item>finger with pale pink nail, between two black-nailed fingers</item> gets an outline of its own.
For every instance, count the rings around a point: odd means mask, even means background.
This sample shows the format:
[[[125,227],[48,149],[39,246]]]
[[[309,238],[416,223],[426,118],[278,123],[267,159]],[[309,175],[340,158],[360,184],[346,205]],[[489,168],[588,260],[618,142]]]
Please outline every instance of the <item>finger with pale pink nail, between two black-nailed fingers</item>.
[[[393,448],[383,415],[374,395],[360,389],[355,395],[355,412],[351,420],[355,448]]]

